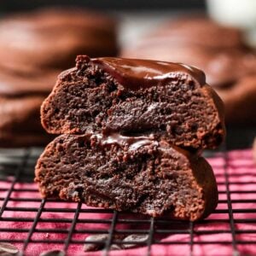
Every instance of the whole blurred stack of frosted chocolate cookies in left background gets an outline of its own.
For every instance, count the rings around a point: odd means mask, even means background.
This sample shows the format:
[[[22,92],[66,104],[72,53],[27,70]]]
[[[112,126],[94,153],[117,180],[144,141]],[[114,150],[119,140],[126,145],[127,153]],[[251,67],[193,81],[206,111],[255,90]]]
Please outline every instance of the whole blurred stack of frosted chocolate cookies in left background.
[[[79,9],[42,9],[0,20],[0,148],[44,146],[40,106],[76,55],[116,55],[116,23]]]

